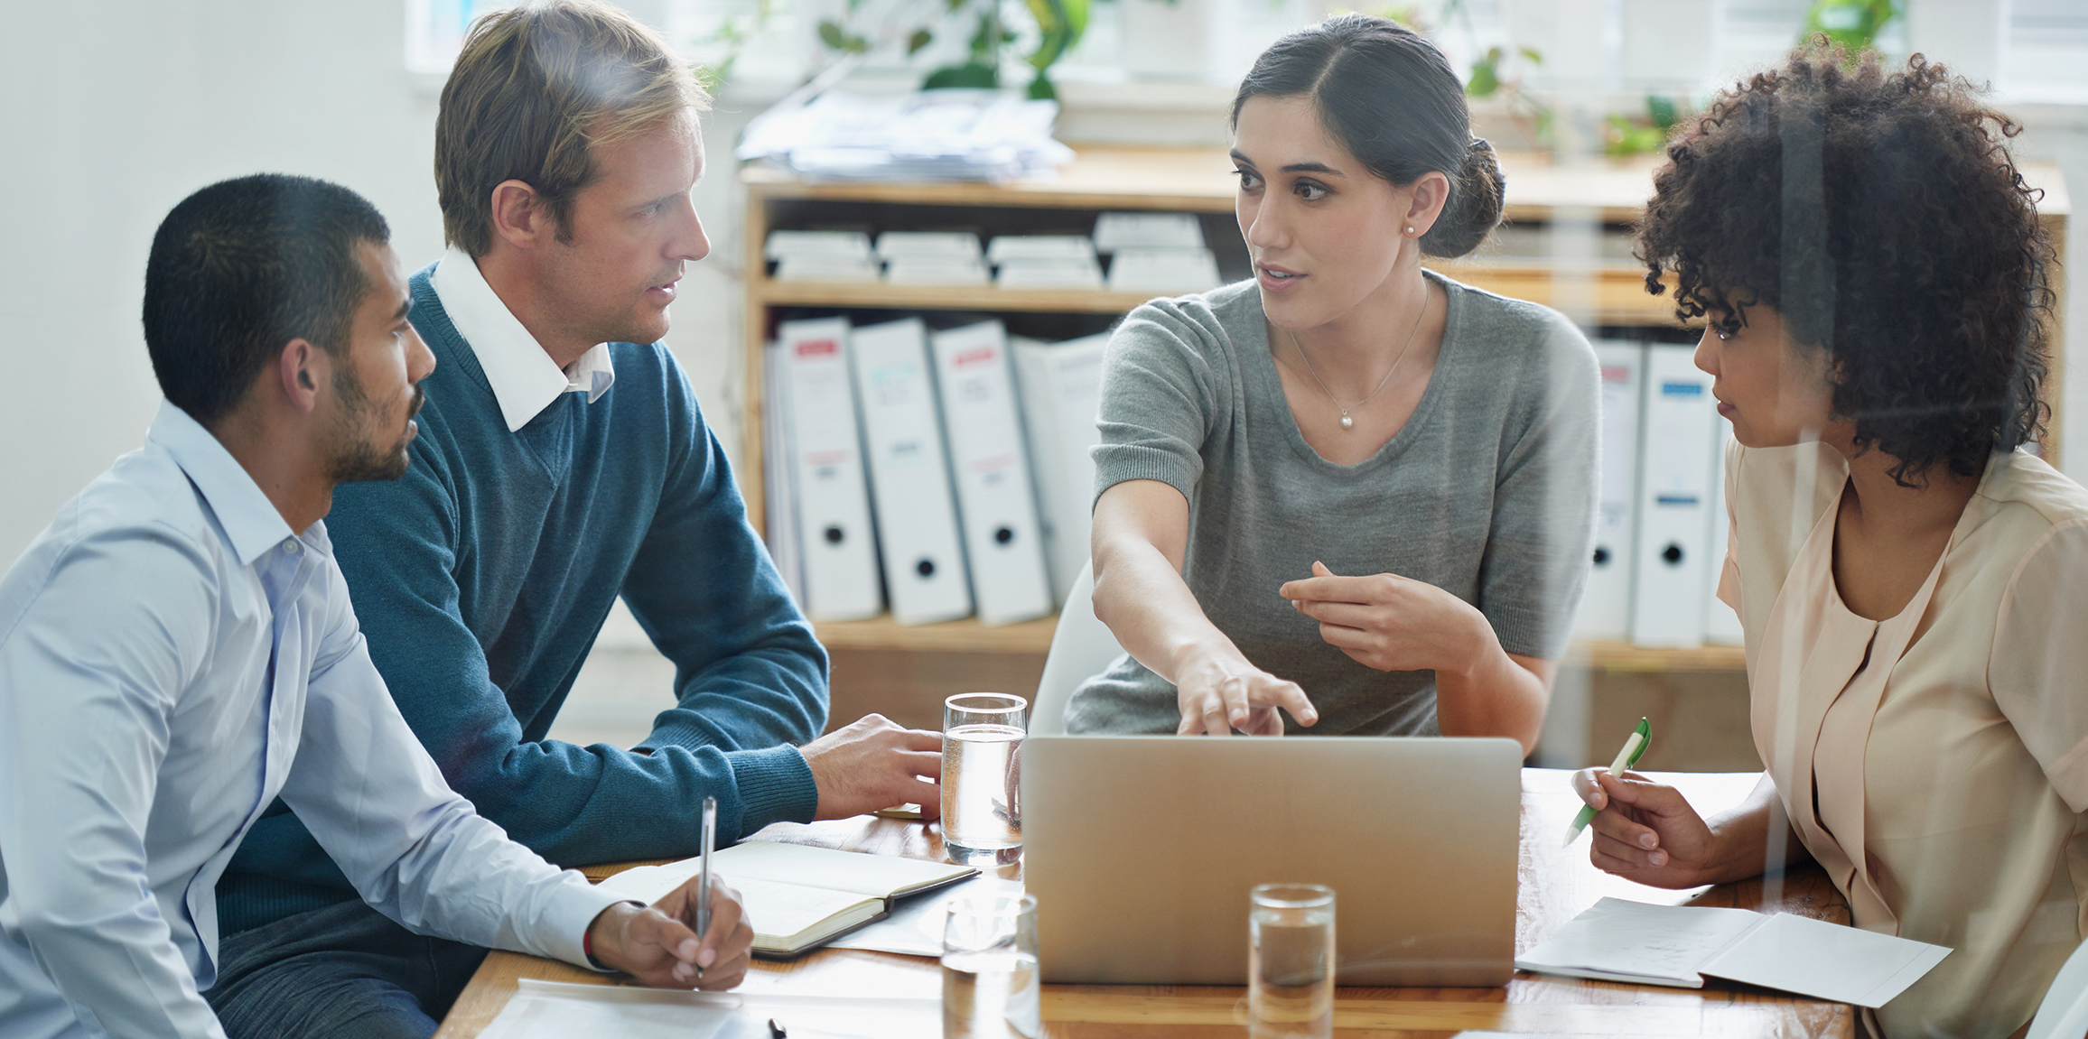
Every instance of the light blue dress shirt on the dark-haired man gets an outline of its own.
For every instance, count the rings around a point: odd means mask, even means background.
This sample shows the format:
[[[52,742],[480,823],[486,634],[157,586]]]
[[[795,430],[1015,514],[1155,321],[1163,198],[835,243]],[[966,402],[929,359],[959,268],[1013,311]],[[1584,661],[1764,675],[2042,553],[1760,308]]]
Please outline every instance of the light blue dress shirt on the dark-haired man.
[[[585,966],[618,901],[443,782],[326,524],[163,403],[0,578],[0,1035],[221,1037],[213,889],[278,795],[420,933]]]

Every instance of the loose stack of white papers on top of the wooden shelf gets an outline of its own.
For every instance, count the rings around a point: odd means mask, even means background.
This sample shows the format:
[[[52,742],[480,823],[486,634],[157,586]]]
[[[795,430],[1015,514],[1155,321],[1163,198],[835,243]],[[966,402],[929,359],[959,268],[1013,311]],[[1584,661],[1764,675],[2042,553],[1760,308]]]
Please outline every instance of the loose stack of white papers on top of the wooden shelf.
[[[887,98],[827,90],[758,115],[735,152],[804,179],[983,179],[1050,175],[1073,150],[1050,136],[1059,102],[998,90]]]

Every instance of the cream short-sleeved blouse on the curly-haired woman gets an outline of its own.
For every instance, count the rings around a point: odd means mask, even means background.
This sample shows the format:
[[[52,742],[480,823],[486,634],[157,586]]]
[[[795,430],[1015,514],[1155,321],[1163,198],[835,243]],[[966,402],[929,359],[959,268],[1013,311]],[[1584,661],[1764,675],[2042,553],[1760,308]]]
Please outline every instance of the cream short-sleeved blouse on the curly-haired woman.
[[[2009,1035],[2088,935],[2088,490],[1994,455],[1871,622],[1833,582],[1846,482],[1825,444],[1727,446],[1754,747],[1856,926],[1956,949],[1873,1024]]]

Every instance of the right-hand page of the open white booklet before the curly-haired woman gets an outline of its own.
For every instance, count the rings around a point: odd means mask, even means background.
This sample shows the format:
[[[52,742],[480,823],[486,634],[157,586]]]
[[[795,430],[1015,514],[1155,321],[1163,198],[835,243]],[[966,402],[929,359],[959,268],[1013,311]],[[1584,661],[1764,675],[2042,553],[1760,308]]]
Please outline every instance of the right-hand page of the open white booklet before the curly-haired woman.
[[[1881,1008],[1950,949],[1777,914],[1704,964],[1706,974],[1837,1004]]]

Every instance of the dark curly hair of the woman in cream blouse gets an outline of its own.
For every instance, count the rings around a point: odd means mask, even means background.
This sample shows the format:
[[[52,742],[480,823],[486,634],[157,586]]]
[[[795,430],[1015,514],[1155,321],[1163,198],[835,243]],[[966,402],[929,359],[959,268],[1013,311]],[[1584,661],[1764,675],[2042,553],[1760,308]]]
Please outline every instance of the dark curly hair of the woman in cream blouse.
[[[1835,371],[1856,446],[1915,486],[2042,434],[2053,246],[2021,129],[1921,54],[1885,73],[1823,38],[1668,144],[1639,223],[1645,290],[1723,332],[1760,303]]]

